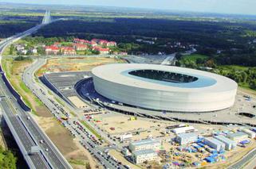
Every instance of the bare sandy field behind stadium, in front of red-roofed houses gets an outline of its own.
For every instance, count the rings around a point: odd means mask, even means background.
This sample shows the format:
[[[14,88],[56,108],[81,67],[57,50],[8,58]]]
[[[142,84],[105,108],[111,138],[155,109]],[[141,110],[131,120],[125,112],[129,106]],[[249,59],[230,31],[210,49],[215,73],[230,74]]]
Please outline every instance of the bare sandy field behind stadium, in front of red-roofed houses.
[[[106,57],[50,59],[39,71],[37,71],[37,76],[41,76],[45,72],[91,71],[93,67],[109,63],[126,63],[126,61]]]

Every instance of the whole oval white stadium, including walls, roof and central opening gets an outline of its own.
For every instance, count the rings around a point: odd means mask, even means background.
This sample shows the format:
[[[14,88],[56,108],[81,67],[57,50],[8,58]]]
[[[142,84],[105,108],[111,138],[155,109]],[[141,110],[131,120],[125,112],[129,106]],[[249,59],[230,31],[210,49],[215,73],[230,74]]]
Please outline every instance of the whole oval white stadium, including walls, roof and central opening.
[[[120,63],[93,68],[96,92],[130,106],[170,112],[211,112],[234,105],[237,83],[207,71]]]

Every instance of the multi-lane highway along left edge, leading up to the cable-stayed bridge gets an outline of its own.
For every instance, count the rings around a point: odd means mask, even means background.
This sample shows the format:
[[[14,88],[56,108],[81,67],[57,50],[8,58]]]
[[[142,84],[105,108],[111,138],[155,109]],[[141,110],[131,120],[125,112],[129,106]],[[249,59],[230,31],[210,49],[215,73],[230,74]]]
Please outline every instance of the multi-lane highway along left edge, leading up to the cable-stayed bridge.
[[[2,52],[8,45],[25,36],[29,36],[50,22],[49,11],[47,11],[41,25],[3,40],[0,44],[0,59],[2,59]],[[4,72],[2,72],[2,75],[4,75]],[[2,78],[0,79],[0,84],[2,113],[6,117],[7,125],[18,142],[28,165],[31,168],[71,168],[55,145],[49,140],[49,137],[45,135],[36,121],[30,116],[30,113],[25,112],[18,104]],[[32,147],[36,148],[37,151],[35,153],[30,153]]]

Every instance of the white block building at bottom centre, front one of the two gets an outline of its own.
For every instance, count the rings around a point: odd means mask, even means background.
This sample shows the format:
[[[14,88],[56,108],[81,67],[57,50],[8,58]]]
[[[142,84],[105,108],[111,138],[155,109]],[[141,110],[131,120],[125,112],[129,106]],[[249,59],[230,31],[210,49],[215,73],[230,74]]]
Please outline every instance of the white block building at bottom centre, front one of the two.
[[[135,163],[144,163],[144,161],[154,161],[157,159],[157,152],[152,149],[139,150],[132,152]]]

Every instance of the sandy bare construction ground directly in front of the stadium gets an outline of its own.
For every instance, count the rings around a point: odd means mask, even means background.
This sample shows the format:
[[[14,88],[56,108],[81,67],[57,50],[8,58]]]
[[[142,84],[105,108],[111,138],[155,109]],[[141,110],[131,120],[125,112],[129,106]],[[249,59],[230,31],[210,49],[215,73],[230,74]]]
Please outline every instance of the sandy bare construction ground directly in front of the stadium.
[[[94,115],[94,119],[100,119],[100,123],[96,125],[100,126],[105,132],[112,136],[119,136],[125,133],[136,133],[140,131],[140,135],[133,135],[132,140],[141,140],[149,136],[154,138],[162,136],[163,139],[174,137],[173,133],[165,135],[166,127],[171,125],[179,125],[181,123],[171,122],[171,121],[157,121],[152,119],[145,119],[138,117],[136,121],[131,121],[130,117],[124,114],[112,114],[112,115]],[[223,125],[202,125],[202,124],[192,124],[195,129],[199,130],[201,134],[208,134],[211,131],[225,129]],[[112,130],[111,128],[115,129]]]

